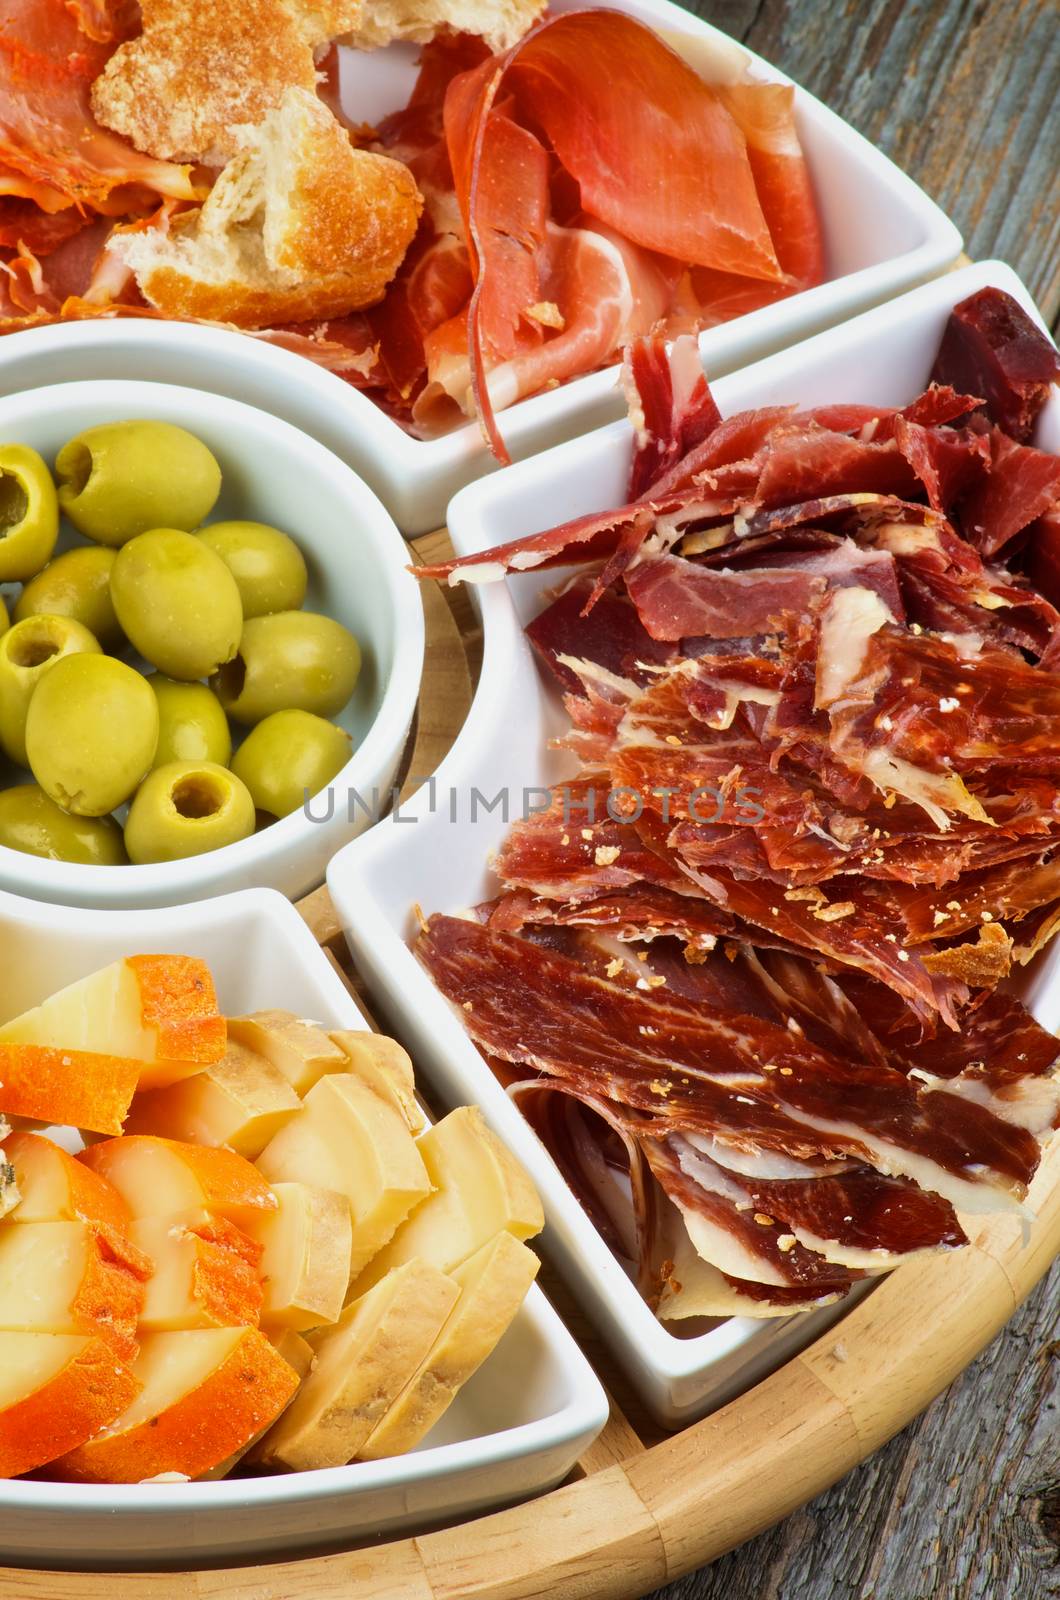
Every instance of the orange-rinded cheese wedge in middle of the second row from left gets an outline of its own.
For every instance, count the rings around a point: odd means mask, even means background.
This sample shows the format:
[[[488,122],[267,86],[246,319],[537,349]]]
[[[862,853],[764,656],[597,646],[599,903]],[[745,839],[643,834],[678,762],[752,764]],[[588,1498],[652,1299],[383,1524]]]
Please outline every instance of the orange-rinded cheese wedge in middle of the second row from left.
[[[258,1326],[261,1246],[231,1222],[208,1211],[149,1216],[131,1224],[130,1237],[154,1266],[141,1334]]]

